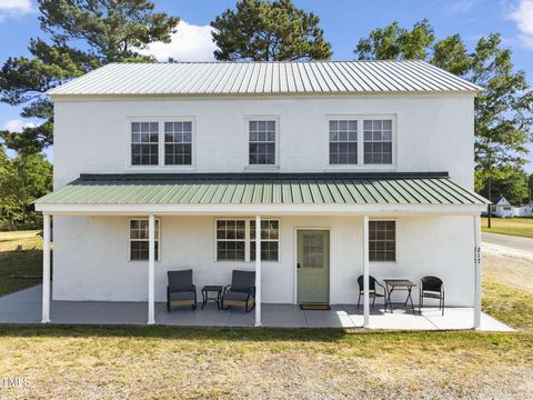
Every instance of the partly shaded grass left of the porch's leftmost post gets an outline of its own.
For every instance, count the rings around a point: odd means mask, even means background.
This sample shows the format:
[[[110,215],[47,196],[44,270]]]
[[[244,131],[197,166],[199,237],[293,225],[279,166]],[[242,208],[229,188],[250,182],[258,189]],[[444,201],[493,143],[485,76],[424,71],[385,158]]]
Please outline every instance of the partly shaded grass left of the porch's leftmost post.
[[[42,282],[42,239],[37,233],[0,232],[0,296]]]

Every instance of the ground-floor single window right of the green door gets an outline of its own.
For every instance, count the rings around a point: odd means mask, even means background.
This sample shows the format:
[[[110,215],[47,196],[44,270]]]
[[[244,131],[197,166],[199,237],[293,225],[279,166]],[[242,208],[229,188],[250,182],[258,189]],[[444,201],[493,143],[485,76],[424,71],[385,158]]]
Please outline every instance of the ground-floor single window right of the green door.
[[[396,261],[396,221],[369,221],[369,259]]]

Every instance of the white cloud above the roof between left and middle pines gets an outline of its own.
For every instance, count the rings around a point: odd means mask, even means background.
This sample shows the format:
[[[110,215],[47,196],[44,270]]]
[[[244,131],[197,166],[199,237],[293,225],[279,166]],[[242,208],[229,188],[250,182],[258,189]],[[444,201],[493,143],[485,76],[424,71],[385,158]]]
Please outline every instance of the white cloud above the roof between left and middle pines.
[[[210,26],[194,26],[180,21],[170,43],[154,42],[140,52],[152,54],[159,61],[168,61],[169,58],[174,61],[213,61],[217,46],[211,39],[212,30]]]

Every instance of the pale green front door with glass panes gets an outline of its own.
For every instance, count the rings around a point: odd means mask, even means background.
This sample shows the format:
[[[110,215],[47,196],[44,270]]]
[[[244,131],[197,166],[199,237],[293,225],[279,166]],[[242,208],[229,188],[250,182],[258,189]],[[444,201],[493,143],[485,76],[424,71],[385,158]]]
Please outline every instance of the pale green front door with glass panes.
[[[330,301],[330,232],[298,231],[298,302]]]

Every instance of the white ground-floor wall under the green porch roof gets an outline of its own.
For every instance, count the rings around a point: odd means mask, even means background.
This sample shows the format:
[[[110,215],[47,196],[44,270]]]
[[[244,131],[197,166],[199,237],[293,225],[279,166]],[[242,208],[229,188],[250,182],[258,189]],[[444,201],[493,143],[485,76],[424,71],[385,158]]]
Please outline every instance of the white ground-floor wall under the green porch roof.
[[[263,263],[263,301],[294,302],[296,228],[331,229],[331,303],[355,303],[362,274],[361,217],[282,217],[281,260]],[[167,270],[194,269],[194,283],[228,284],[233,269],[253,263],[214,261],[214,217],[162,217],[155,299],[164,301]],[[446,304],[473,304],[472,217],[400,217],[398,262],[371,263],[378,279],[441,277]],[[418,301],[418,290],[414,300]],[[128,218],[56,217],[53,299],[145,301],[148,262],[128,261]],[[398,298],[404,299],[403,297]]]

